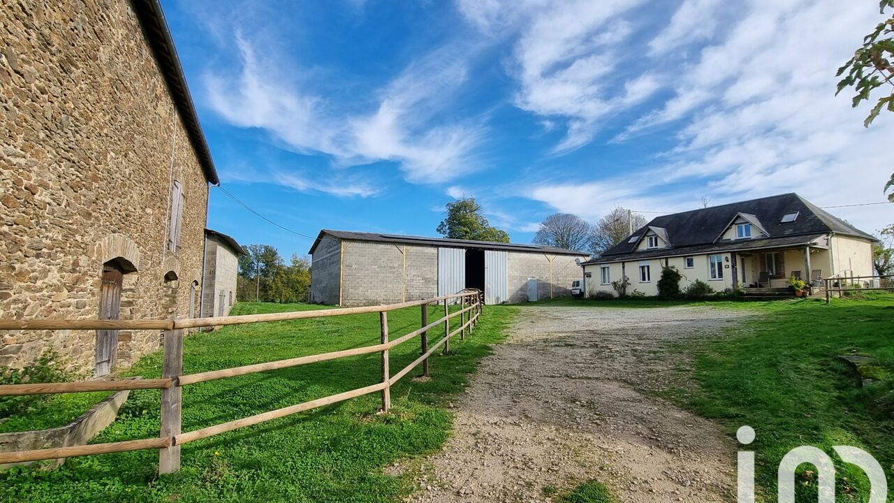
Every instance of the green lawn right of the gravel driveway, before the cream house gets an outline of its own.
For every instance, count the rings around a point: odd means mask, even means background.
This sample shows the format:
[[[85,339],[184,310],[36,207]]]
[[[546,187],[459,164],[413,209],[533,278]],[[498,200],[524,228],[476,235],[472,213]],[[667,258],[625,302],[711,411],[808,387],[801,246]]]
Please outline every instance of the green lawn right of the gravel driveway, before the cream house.
[[[679,371],[694,389],[670,398],[720,422],[735,434],[750,425],[755,442],[755,480],[765,500],[775,501],[777,467],[791,448],[810,445],[832,455],[834,445],[864,448],[894,479],[894,295],[866,300],[808,299],[743,303],[755,317],[723,337],[671,348],[693,356]],[[839,354],[868,354],[882,369],[881,381],[859,388],[855,372]],[[886,402],[887,401],[887,402]],[[838,501],[866,501],[868,482],[858,468],[837,460]],[[816,501],[814,473],[799,475],[797,501]],[[814,470],[812,467],[811,470]],[[894,487],[894,486],[892,486]]]

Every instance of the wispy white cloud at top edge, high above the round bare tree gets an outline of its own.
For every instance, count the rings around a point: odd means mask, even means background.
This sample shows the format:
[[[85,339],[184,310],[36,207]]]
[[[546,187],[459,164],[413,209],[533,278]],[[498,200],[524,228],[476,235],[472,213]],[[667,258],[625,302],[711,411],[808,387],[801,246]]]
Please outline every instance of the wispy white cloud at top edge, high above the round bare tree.
[[[510,62],[519,81],[515,104],[549,118],[546,124],[554,124],[553,119],[567,123],[567,134],[555,148],[561,153],[586,145],[606,116],[642,102],[661,87],[651,76],[625,82],[617,71],[632,31],[620,15],[642,3],[460,0],[457,6],[489,35],[518,36]]]

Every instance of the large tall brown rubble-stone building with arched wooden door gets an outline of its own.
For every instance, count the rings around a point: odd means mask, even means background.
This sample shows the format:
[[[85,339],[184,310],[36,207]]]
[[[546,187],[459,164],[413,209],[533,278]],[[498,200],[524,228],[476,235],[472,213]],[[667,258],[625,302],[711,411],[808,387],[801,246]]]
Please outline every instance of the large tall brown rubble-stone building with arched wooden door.
[[[0,34],[0,318],[196,315],[218,179],[157,1],[6,2]],[[101,375],[161,334],[0,337]]]

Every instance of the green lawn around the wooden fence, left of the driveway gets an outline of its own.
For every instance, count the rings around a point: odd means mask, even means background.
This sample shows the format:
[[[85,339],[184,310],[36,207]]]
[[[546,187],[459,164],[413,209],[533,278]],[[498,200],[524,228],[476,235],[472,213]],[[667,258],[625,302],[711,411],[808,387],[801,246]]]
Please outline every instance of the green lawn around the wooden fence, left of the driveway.
[[[308,309],[319,307],[239,303],[233,314]],[[0,473],[0,502],[400,499],[412,482],[409,476],[385,474],[384,466],[441,448],[452,423],[446,404],[466,385],[478,360],[501,342],[513,312],[503,306],[485,307],[471,337],[451,340],[447,356],[433,355],[432,379],[421,382],[408,376],[392,387],[391,413],[375,413],[381,398],[373,394],[197,440],[183,446],[181,472],[163,477],[156,475],[154,450],[75,457],[51,472],[14,468]],[[440,316],[443,309],[429,308],[429,320]],[[453,326],[458,322],[455,319]],[[418,326],[419,308],[389,313],[392,338]],[[443,328],[434,328],[429,336],[430,344],[436,343],[443,337]],[[378,340],[378,313],[232,326],[187,337],[184,371],[269,362],[377,344]],[[412,362],[418,352],[418,337],[393,348],[392,373]],[[421,365],[409,375],[417,375],[420,369]],[[126,372],[146,378],[160,373],[160,353],[148,355]],[[380,355],[367,354],[192,385],[183,390],[183,431],[360,388],[379,379]],[[157,390],[131,391],[118,420],[93,441],[156,437],[159,401]],[[39,424],[17,420],[15,429],[54,421],[46,419],[46,414],[40,417],[44,419]]]

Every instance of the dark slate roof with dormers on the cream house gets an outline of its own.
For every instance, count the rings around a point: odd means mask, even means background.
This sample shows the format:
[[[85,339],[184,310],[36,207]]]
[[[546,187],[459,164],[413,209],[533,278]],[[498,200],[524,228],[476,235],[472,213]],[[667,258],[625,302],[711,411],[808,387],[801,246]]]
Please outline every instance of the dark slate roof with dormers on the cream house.
[[[781,222],[787,213],[798,213],[794,222]],[[730,222],[739,214],[754,216],[769,237],[761,239],[717,241]],[[585,263],[601,263],[620,260],[637,260],[654,257],[690,255],[712,251],[738,251],[777,246],[796,246],[814,243],[824,234],[834,232],[875,241],[875,238],[851,226],[829,212],[820,209],[796,193],[780,194],[755,200],[744,200],[704,209],[694,209],[672,215],[655,217],[633,235],[641,236],[649,227],[667,230],[673,246],[659,250],[637,252],[637,242],[629,243],[625,238],[600,257]]]

